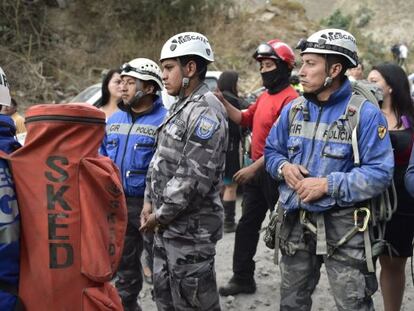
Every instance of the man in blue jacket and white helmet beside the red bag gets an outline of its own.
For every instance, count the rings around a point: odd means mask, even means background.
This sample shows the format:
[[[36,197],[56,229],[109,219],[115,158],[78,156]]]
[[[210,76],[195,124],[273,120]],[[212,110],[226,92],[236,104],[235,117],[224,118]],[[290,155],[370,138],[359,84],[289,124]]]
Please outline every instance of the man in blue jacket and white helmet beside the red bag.
[[[163,84],[161,70],[154,61],[137,58],[121,69],[125,107],[108,119],[101,152],[118,166],[126,195],[128,226],[115,285],[125,311],[136,311],[141,310],[137,299],[143,285],[144,242],[139,227],[145,178],[155,151],[157,128],[167,109],[156,94]]]

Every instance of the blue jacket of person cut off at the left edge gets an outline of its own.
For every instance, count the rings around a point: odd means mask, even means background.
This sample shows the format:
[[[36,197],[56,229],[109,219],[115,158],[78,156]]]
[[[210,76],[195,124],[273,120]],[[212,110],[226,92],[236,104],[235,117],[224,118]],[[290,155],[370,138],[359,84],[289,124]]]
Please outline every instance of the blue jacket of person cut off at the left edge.
[[[0,150],[11,153],[20,147],[14,138],[13,120],[0,115]],[[6,160],[0,159],[0,310],[11,311],[16,296],[5,291],[17,292],[19,282],[20,215],[14,183]]]

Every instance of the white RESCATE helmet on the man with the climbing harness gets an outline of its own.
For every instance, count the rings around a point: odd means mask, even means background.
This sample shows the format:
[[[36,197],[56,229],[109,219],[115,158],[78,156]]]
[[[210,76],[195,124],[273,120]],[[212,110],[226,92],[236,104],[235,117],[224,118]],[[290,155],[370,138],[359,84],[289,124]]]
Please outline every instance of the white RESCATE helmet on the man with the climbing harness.
[[[312,34],[307,40],[301,39],[296,47],[302,52],[315,54],[338,54],[345,56],[350,68],[358,65],[356,40],[342,29],[324,29]]]

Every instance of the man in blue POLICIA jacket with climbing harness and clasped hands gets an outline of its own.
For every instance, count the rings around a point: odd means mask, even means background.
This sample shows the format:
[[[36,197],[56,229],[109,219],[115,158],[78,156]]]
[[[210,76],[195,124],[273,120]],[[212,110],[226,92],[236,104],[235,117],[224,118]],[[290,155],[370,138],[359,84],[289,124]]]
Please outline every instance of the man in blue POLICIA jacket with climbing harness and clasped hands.
[[[364,226],[370,214],[359,204],[391,183],[394,158],[387,123],[368,101],[359,112],[348,108],[352,86],[345,72],[358,64],[350,33],[321,30],[298,48],[302,104],[295,100],[282,110],[265,147],[266,170],[281,181],[280,310],[311,310],[322,263],[339,310],[373,310],[378,283],[366,260],[372,248],[364,244],[371,243]],[[347,117],[355,113],[359,166]]]

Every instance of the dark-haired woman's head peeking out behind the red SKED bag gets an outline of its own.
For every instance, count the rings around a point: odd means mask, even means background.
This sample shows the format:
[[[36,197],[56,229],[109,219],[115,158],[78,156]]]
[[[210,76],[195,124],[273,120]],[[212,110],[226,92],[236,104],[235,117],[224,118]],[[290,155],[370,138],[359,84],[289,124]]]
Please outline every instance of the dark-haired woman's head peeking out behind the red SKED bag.
[[[102,97],[96,104],[96,107],[105,113],[107,120],[119,109],[118,104],[122,96],[122,80],[120,74],[120,69],[111,69],[102,81]]]

